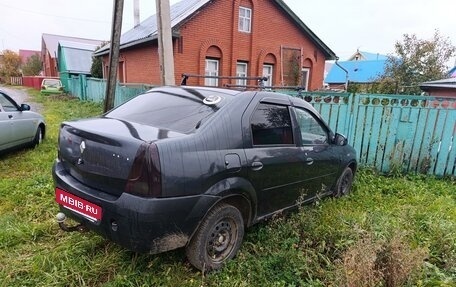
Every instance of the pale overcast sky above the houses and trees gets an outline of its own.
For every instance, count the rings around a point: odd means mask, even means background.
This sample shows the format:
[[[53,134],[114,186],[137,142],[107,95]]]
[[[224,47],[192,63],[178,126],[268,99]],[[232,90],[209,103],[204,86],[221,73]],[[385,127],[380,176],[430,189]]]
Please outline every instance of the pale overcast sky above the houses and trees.
[[[435,29],[456,45],[454,0],[284,1],[341,60],[356,49],[393,53],[404,34],[430,39]],[[133,0],[124,3],[127,31],[133,27]],[[141,20],[155,14],[155,1],[139,3]],[[40,50],[42,33],[108,40],[112,6],[112,0],[0,0],[0,49]]]

